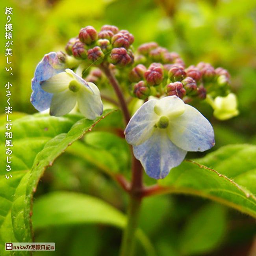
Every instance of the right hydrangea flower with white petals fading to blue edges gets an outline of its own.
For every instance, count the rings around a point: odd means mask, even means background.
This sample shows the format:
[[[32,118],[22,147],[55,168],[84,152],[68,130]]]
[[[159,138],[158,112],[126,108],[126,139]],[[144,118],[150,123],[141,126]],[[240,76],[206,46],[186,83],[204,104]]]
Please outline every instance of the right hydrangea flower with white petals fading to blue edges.
[[[177,96],[145,102],[124,134],[146,173],[155,179],[167,176],[187,151],[205,151],[215,145],[210,122]]]

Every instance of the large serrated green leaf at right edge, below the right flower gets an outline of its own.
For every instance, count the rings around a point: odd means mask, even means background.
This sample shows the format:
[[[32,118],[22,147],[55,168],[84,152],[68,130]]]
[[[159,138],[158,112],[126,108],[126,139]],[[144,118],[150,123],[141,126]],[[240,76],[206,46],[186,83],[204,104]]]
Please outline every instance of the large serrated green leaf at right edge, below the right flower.
[[[210,198],[256,217],[256,146],[228,145],[184,161],[159,181],[164,192]]]

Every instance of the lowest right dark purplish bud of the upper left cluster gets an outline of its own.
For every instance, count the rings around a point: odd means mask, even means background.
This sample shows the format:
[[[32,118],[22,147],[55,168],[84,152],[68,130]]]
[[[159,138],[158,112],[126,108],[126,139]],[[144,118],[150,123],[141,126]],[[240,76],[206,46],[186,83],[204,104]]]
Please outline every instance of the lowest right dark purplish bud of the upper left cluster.
[[[132,58],[125,48],[113,48],[109,55],[109,62],[124,67],[132,63]]]

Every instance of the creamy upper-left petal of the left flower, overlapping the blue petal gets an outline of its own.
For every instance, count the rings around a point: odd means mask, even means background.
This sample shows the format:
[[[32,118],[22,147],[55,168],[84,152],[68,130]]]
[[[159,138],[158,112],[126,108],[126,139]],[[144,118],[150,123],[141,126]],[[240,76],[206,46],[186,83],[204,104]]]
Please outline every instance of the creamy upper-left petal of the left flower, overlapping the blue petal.
[[[48,80],[42,81],[41,88],[47,93],[60,93],[65,91],[69,87],[69,83],[73,80],[70,74],[61,72],[49,78]]]

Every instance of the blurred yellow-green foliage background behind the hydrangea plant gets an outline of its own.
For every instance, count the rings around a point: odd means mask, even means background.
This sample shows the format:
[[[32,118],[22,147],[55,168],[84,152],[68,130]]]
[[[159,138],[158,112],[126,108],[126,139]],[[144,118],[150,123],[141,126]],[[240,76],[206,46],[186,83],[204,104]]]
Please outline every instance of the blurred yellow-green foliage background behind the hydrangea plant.
[[[240,115],[220,122],[212,117],[208,105],[198,106],[214,126],[213,150],[227,144],[256,143],[256,1],[4,0],[0,5],[1,67],[6,60],[4,7],[13,7],[13,76],[1,68],[1,113],[6,106],[4,84],[8,80],[13,83],[13,109],[35,113],[30,104],[31,79],[43,55],[63,50],[84,26],[99,30],[104,24],[113,24],[134,35],[135,48],[157,41],[178,52],[187,66],[206,61],[229,70]],[[69,154],[48,168],[42,180],[37,197],[55,190],[79,191],[103,198],[121,210],[126,206],[127,198],[113,181]],[[146,199],[140,226],[160,256],[249,255],[253,241],[256,243],[252,218],[184,195]],[[58,250],[52,254],[61,256],[117,255],[120,239],[120,230],[101,225],[35,230],[35,240],[56,242]],[[138,255],[143,255],[141,248]]]

